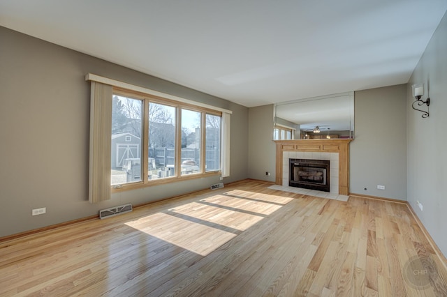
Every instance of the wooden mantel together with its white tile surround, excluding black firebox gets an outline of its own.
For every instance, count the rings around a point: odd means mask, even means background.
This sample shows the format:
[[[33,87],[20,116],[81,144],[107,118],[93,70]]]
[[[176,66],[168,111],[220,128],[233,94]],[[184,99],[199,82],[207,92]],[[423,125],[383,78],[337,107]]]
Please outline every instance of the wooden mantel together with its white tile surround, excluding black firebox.
[[[276,184],[288,185],[288,159],[330,160],[330,194],[349,195],[349,143],[353,139],[276,140]]]

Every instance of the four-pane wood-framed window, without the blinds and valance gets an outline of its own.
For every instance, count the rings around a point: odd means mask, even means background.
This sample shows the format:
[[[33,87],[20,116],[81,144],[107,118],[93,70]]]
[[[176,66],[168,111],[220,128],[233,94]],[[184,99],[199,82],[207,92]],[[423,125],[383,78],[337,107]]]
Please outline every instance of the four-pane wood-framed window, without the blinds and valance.
[[[220,172],[220,123],[221,112],[115,88],[110,185],[126,188]]]

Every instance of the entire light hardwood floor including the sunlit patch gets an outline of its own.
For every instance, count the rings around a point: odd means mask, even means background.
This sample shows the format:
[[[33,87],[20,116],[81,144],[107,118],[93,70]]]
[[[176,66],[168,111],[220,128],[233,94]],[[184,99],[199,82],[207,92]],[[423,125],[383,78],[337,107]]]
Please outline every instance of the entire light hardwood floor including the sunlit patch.
[[[0,296],[447,296],[405,204],[242,181],[0,243]]]

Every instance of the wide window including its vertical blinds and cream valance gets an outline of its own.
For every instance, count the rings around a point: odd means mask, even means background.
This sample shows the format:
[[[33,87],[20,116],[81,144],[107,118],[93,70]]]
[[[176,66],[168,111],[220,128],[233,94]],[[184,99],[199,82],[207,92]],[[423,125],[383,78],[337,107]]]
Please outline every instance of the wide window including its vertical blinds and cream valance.
[[[87,74],[89,201],[117,190],[230,175],[230,110]]]

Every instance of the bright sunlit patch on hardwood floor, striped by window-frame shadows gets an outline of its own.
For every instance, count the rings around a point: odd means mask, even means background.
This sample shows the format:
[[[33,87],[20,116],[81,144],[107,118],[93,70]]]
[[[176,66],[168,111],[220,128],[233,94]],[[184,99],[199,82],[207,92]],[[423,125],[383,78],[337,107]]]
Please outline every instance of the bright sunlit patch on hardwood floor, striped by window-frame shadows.
[[[147,215],[126,225],[206,256],[291,200],[232,190]]]

